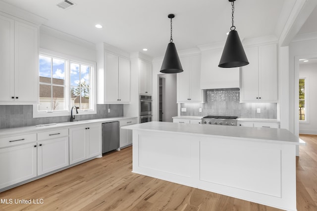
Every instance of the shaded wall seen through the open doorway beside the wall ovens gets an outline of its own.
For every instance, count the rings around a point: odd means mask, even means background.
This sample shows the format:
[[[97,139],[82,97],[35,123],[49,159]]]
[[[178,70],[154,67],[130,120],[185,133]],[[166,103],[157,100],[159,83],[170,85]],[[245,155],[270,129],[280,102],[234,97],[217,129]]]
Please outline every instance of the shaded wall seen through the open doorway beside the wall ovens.
[[[173,122],[172,117],[177,116],[177,74],[161,74],[159,77],[165,78],[165,99],[163,101],[165,122]]]

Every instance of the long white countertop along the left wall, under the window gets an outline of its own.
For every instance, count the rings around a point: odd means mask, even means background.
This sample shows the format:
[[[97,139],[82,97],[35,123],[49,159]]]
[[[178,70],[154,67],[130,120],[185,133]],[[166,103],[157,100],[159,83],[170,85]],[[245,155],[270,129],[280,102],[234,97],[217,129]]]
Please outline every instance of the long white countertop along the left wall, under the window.
[[[42,127],[36,126],[27,126],[27,127],[13,127],[13,128],[4,128],[0,129],[0,136],[8,136],[8,135],[15,135],[16,133],[29,133],[29,132],[39,132],[44,130],[52,130],[52,129],[59,129],[62,127],[76,127],[83,124],[92,124],[92,123],[107,123],[112,121],[120,121],[125,119],[131,119],[137,117],[113,117],[113,118],[104,118],[104,119],[94,119],[94,120],[82,120],[82,121],[75,121],[75,122],[64,122],[64,123],[56,123],[54,124],[44,124]]]

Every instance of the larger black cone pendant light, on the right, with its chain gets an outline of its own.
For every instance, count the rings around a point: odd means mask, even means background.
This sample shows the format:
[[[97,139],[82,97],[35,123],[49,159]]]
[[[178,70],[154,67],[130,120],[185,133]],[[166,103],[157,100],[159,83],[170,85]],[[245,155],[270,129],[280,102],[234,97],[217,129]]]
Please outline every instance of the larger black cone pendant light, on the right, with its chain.
[[[229,0],[232,5],[232,26],[224,45],[223,52],[218,67],[242,67],[249,64],[244,52],[236,27],[233,25],[234,1]]]

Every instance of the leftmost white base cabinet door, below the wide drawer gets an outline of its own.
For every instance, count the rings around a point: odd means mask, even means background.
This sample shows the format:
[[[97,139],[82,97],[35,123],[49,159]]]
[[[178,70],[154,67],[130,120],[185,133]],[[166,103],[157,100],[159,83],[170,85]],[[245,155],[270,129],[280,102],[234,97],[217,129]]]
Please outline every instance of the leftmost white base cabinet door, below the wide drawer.
[[[37,176],[36,143],[0,149],[0,189]]]

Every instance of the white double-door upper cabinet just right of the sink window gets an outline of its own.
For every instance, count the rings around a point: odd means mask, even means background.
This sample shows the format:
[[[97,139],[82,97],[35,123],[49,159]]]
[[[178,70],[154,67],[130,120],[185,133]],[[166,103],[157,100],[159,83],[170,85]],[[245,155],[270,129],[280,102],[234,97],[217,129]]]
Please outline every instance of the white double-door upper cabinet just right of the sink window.
[[[130,103],[129,54],[106,43],[97,44],[97,51],[97,103]]]

